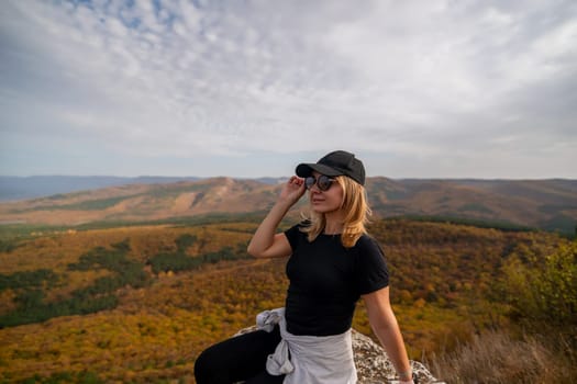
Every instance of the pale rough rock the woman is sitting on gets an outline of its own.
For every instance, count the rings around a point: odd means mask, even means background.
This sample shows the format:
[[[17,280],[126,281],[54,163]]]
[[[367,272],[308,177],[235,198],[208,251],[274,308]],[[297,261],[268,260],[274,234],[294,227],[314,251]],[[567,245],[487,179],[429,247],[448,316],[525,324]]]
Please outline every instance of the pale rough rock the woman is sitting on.
[[[256,330],[256,327],[242,329],[236,335]],[[357,369],[358,384],[393,384],[397,383],[395,368],[387,353],[369,337],[353,329],[353,352]],[[413,373],[419,384],[444,384],[434,377],[420,362],[411,360]]]

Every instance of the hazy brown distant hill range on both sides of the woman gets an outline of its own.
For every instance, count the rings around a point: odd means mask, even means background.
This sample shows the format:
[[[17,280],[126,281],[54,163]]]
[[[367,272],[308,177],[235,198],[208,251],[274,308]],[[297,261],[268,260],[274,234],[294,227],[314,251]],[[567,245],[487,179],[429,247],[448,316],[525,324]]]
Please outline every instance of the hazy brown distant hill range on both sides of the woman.
[[[122,184],[123,180],[130,182]],[[80,187],[79,181],[75,180]],[[280,181],[192,178],[174,182],[169,178],[102,178],[101,184],[114,184],[0,203],[0,223],[74,226],[91,222],[149,222],[264,212],[275,202]],[[88,178],[85,182],[85,187],[89,187],[95,181]],[[475,221],[566,234],[574,234],[577,224],[577,180],[392,180],[377,177],[368,178],[367,190],[374,213],[380,217]],[[303,200],[295,214],[304,207]]]

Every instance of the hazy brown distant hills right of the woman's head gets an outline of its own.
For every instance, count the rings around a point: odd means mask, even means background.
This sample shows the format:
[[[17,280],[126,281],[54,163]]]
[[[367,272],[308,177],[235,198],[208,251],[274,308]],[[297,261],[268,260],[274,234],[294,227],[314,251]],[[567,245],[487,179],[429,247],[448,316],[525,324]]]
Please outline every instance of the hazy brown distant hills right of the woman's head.
[[[521,225],[575,234],[577,180],[390,180],[368,181],[375,212]]]

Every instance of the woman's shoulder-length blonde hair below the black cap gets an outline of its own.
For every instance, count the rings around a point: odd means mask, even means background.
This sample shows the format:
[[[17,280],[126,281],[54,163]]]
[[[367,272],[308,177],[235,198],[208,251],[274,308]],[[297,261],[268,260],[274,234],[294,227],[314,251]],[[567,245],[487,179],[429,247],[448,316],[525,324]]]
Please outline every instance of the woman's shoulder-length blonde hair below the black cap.
[[[366,225],[371,212],[367,203],[366,190],[363,185],[345,176],[336,177],[335,181],[343,189],[341,210],[345,212],[341,242],[345,248],[351,248],[360,236],[367,233]],[[303,227],[302,231],[307,234],[309,241],[313,241],[324,230],[326,218],[324,214],[311,211],[308,219],[310,225]]]

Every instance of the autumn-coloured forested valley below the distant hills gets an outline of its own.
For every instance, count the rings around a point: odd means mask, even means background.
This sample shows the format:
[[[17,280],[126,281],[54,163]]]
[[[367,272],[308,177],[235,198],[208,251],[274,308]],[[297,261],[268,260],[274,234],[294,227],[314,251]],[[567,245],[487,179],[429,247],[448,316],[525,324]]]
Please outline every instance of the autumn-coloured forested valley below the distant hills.
[[[4,230],[0,383],[193,383],[202,349],[284,305],[286,260],[246,255],[256,226]],[[452,362],[498,331],[515,345],[537,342],[557,364],[556,376],[535,377],[577,377],[574,239],[408,219],[376,219],[369,230],[386,253],[411,359],[462,380]],[[362,303],[354,328],[374,337]],[[509,382],[531,382],[506,370]]]

